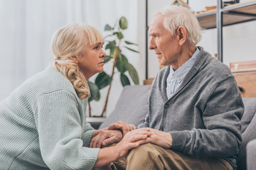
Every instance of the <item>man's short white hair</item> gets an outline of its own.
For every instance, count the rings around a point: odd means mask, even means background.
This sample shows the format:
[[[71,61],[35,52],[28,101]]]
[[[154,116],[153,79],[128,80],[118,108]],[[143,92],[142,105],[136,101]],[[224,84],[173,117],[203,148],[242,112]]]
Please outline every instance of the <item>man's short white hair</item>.
[[[196,16],[189,8],[182,6],[164,6],[160,12],[164,15],[163,25],[171,35],[176,35],[178,27],[183,26],[187,31],[187,40],[190,45],[196,45],[201,40],[201,26]]]

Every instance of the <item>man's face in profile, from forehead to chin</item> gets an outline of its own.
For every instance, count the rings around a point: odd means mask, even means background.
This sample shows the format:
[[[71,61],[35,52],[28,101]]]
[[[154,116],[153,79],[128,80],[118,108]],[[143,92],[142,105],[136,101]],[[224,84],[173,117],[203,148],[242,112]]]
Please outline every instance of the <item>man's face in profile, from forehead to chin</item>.
[[[149,49],[155,50],[161,65],[176,64],[181,47],[178,38],[172,36],[163,25],[164,16],[159,13],[154,16],[149,24]]]

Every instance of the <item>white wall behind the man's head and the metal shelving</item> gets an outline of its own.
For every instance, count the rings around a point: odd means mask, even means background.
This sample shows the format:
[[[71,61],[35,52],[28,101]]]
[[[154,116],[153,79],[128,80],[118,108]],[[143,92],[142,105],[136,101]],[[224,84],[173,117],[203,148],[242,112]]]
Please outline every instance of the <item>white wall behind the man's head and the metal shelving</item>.
[[[245,2],[247,0],[240,0]],[[162,6],[170,5],[173,1],[167,0],[149,0],[149,21],[151,16]],[[142,2],[139,1],[142,4]],[[189,6],[192,11],[203,11],[205,6],[216,6],[217,0],[190,0]],[[143,11],[144,12],[144,11]],[[139,16],[144,16],[140,13]],[[234,16],[235,17],[235,16]],[[233,26],[223,28],[223,63],[229,66],[230,62],[256,60],[256,21],[240,23]],[[139,28],[140,29],[140,28]],[[145,34],[142,33],[143,35]],[[142,42],[139,38],[139,42]],[[144,40],[145,43],[145,40]],[[198,45],[210,52],[211,55],[217,53],[217,30],[215,28],[203,31],[203,38]],[[141,54],[141,57],[144,57]],[[159,71],[159,63],[157,62],[154,52],[149,50],[149,78],[155,77]]]

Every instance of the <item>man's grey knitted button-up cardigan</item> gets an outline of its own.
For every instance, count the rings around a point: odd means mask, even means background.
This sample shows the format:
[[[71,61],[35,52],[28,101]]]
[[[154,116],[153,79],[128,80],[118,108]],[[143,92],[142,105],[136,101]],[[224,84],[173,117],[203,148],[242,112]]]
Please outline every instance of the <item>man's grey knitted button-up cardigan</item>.
[[[149,94],[149,113],[139,128],[170,132],[171,149],[196,157],[222,157],[236,169],[244,111],[240,91],[230,69],[198,48],[193,67],[169,100],[169,67],[159,71]]]

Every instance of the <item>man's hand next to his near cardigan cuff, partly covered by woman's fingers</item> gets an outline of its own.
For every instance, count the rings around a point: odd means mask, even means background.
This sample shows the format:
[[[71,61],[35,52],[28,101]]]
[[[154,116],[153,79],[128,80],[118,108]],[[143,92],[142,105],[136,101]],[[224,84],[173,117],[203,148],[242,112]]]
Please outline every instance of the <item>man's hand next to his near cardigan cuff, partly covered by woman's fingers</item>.
[[[151,135],[146,138],[146,142],[159,145],[163,148],[170,148],[172,146],[173,140],[171,137],[171,133],[155,130],[152,128],[149,128],[149,131],[151,132]]]

